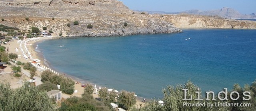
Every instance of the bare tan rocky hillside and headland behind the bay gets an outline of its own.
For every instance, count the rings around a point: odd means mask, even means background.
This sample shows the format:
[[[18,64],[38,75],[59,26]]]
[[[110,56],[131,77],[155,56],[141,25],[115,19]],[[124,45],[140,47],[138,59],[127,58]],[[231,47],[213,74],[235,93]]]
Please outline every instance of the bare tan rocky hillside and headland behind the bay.
[[[54,35],[116,36],[181,32],[179,28],[248,28],[254,21],[210,16],[140,14],[118,0],[0,0],[1,24],[28,31],[46,26]],[[29,20],[25,20],[28,17]],[[52,20],[55,18],[55,20]],[[79,25],[73,25],[78,21]],[[70,23],[71,26],[67,27]],[[127,26],[124,26],[127,23]],[[88,29],[87,25],[93,28]],[[178,28],[177,28],[178,27]]]

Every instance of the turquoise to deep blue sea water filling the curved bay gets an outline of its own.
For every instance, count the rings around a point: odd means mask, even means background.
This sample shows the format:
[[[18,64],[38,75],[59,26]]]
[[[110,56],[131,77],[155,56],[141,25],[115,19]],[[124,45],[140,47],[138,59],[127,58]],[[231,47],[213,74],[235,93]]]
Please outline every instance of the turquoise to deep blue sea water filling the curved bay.
[[[189,79],[204,92],[256,79],[256,30],[183,31],[52,39],[37,43],[37,50],[59,72],[146,98],[161,98],[162,88]]]

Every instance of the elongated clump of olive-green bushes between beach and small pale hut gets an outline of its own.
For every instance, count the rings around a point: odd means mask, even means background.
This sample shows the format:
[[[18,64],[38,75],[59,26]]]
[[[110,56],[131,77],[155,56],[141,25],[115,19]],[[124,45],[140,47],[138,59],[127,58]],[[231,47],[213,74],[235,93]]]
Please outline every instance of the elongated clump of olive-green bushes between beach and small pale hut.
[[[41,73],[42,82],[51,82],[52,84],[60,84],[60,90],[63,93],[72,94],[74,93],[75,82],[71,78],[67,78],[63,75],[56,75],[50,70],[45,70]]]

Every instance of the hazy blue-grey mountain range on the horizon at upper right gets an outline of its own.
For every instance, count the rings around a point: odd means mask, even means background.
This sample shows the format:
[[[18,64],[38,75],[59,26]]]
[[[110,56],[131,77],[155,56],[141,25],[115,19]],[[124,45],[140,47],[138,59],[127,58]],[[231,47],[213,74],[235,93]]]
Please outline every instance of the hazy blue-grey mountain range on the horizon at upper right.
[[[232,19],[256,19],[255,13],[252,13],[250,15],[245,15],[239,13],[237,10],[234,10],[232,8],[223,7],[222,9],[218,10],[187,10],[183,12],[160,12],[158,11],[145,11],[149,14],[192,14],[192,15],[203,15],[203,16],[220,16],[222,18],[232,18]]]

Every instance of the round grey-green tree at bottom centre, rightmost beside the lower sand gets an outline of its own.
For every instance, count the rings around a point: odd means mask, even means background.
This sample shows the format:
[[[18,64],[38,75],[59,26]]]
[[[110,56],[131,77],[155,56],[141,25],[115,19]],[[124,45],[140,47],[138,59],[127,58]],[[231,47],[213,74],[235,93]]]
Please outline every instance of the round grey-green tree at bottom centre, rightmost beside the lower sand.
[[[130,107],[136,104],[136,97],[134,95],[134,92],[130,93],[126,91],[121,91],[118,97],[119,105],[121,105],[123,109],[130,109]]]

